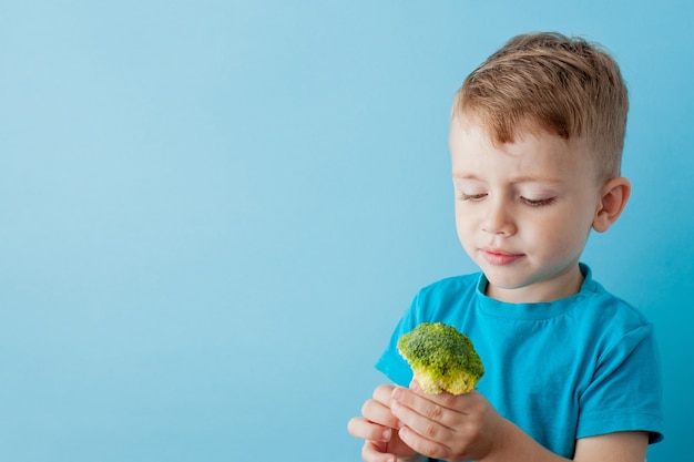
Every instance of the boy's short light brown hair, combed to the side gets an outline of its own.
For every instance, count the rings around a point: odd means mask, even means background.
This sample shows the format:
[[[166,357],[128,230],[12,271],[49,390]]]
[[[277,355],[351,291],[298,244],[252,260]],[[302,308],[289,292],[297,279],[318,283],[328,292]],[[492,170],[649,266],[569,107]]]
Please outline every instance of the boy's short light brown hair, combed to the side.
[[[582,137],[599,179],[620,176],[629,97],[599,44],[560,33],[514,37],[468,75],[453,110],[479,117],[497,144],[528,130]]]

